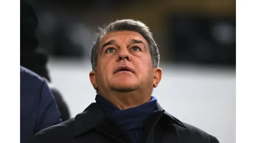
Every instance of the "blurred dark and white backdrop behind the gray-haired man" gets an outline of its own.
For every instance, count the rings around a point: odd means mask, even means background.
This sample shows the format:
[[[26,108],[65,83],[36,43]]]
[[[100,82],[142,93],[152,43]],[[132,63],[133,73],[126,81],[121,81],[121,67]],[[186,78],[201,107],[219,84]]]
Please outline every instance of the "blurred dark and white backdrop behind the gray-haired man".
[[[181,121],[235,143],[235,0],[28,0],[39,47],[71,116],[94,102],[90,48],[97,26],[117,19],[147,24],[161,54],[163,78],[153,96]]]

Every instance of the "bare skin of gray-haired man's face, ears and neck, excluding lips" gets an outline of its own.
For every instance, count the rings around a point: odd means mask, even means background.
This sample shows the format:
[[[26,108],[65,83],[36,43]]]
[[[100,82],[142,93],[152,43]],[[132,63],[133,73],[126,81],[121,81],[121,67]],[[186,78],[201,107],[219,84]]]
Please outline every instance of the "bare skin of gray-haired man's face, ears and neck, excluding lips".
[[[98,94],[124,110],[148,102],[162,78],[153,68],[147,41],[137,32],[118,31],[103,37],[98,49],[97,70],[90,81]],[[117,72],[119,67],[129,71]]]

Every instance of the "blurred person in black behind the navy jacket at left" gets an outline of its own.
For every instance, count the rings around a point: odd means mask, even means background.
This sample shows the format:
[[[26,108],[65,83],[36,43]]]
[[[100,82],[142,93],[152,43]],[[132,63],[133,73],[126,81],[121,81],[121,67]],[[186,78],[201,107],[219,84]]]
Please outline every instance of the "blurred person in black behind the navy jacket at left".
[[[38,20],[33,7],[26,1],[20,1],[20,65],[24,66],[39,76],[46,78],[51,82],[48,69],[46,67],[48,56],[43,49],[39,49],[36,38],[36,28]],[[61,112],[62,121],[70,119],[70,112],[67,104],[62,98],[61,93],[54,87],[51,87],[52,93],[56,99],[58,108]]]

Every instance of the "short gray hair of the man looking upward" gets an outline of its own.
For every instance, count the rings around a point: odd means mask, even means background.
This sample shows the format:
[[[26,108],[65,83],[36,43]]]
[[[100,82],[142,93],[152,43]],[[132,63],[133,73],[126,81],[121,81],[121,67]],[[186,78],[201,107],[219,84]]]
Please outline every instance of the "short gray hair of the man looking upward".
[[[91,48],[91,64],[92,70],[96,70],[97,67],[97,58],[98,58],[98,49],[99,44],[103,37],[107,33],[116,32],[116,31],[134,31],[142,35],[145,40],[148,42],[150,55],[152,58],[153,67],[156,68],[159,66],[160,54],[156,42],[153,39],[152,33],[150,32],[148,26],[140,21],[135,21],[132,19],[117,20],[112,22],[104,28],[99,28],[99,32],[95,34],[95,41]]]

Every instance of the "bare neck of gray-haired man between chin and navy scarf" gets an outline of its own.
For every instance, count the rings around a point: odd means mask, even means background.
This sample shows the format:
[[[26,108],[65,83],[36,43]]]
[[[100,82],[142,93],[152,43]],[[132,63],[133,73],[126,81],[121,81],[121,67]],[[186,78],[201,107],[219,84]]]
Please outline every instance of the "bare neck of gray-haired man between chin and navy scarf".
[[[103,94],[98,91],[98,94],[114,104],[120,110],[140,106],[151,99],[151,92],[149,94],[136,94],[135,92],[121,93],[113,91],[109,94]]]

